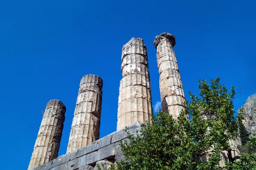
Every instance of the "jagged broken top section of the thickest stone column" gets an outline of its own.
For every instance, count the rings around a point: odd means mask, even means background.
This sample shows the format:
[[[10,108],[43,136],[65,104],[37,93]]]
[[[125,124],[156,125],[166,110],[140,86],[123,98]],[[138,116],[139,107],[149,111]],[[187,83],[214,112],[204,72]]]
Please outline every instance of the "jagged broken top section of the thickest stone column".
[[[128,41],[122,47],[122,60],[126,55],[129,54],[138,54],[143,55],[147,58],[147,48],[143,42],[142,38],[134,38],[132,37],[131,40]]]

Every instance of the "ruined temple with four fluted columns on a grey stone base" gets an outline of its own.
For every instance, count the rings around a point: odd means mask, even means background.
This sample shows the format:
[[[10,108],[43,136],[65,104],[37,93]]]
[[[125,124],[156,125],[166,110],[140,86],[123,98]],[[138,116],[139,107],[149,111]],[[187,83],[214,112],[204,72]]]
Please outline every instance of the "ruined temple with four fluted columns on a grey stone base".
[[[160,74],[162,110],[177,119],[185,95],[173,50],[175,37],[162,33],[155,37]],[[150,121],[153,115],[148,54],[142,38],[131,38],[121,55],[122,79],[119,86],[117,131],[99,139],[103,81],[98,75],[81,78],[67,153],[58,157],[66,108],[61,101],[48,102],[35,141],[28,170],[97,170],[122,159],[119,141]],[[104,114],[104,113],[103,113]]]

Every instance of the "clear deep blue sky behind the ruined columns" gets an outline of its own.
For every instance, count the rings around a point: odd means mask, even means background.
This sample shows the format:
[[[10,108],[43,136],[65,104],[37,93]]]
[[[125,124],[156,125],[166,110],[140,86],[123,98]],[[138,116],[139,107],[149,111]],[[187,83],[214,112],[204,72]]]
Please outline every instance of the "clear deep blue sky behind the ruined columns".
[[[219,76],[236,87],[237,110],[256,92],[255,9],[254,0],[1,1],[2,169],[27,169],[51,99],[67,107],[59,156],[66,152],[83,75],[104,81],[100,137],[116,130],[122,46],[131,37],[148,49],[153,107],[160,101],[153,41],[170,32],[185,95],[198,94],[198,79]]]

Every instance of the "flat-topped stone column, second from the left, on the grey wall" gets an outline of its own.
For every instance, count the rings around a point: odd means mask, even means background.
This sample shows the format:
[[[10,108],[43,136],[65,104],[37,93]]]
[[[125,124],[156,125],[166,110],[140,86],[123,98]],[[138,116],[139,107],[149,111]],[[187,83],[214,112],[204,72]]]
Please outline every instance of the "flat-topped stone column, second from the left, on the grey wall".
[[[67,153],[99,139],[102,86],[98,75],[85,75],[81,79]]]

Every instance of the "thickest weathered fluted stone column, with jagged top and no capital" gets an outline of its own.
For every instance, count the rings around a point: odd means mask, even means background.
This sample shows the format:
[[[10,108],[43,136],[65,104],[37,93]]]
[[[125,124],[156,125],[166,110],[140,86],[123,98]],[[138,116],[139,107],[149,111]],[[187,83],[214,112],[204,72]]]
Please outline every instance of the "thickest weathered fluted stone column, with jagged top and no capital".
[[[150,121],[153,113],[148,55],[143,39],[131,38],[122,48],[117,130]]]

